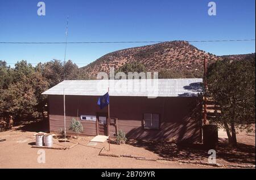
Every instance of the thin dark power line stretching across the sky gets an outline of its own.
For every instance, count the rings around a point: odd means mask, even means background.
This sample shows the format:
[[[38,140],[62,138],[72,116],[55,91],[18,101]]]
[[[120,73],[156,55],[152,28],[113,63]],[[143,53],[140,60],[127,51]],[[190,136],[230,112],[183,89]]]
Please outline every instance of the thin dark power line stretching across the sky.
[[[255,41],[255,39],[188,40],[189,43],[214,43],[234,41]],[[84,42],[0,42],[0,44],[118,44],[118,43],[165,43],[167,41],[84,41]]]

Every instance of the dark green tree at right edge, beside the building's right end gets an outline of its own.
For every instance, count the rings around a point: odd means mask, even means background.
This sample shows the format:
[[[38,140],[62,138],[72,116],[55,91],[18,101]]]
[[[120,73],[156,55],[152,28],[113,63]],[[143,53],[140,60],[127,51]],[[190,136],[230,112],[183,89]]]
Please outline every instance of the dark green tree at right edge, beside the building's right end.
[[[213,123],[222,125],[236,146],[236,128],[252,131],[255,123],[255,58],[217,61],[208,68],[207,82],[208,97],[221,108]]]

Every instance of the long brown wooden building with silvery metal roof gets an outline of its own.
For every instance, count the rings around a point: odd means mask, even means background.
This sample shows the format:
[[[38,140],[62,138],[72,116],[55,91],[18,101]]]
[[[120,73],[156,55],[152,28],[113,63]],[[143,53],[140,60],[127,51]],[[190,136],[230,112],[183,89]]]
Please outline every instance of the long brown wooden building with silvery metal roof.
[[[64,94],[67,133],[72,118],[80,119],[81,135],[114,136],[118,130],[130,139],[152,141],[201,140],[202,79],[63,81],[47,90],[49,131],[64,129]],[[150,83],[148,83],[150,82]],[[132,86],[131,86],[132,85]],[[98,98],[108,91],[108,107]]]

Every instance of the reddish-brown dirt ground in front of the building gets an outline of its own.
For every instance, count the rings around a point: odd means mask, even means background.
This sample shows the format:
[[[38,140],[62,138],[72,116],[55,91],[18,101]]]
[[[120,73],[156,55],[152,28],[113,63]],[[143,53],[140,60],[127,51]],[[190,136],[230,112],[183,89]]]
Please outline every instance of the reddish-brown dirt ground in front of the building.
[[[40,122],[38,122],[40,124]],[[93,137],[80,137],[69,139],[69,147],[79,141],[71,149],[43,149],[46,152],[46,163],[39,163],[38,148],[35,145],[36,132],[42,129],[32,129],[39,124],[27,123],[17,126],[10,131],[0,132],[0,168],[214,168],[212,166],[181,164],[176,160],[200,160],[207,162],[208,151],[201,149],[200,145],[180,146],[168,143],[152,143],[128,141],[125,145],[110,145],[110,152],[114,154],[128,154],[146,158],[168,157],[174,161],[145,161],[126,157],[98,156],[100,150],[109,149],[108,143],[97,143],[88,146]],[[238,134],[238,148],[229,148],[226,145],[225,133],[220,132],[221,143],[217,150],[217,162],[221,164],[253,164],[255,165],[255,133],[247,135]],[[65,146],[65,143],[54,140],[55,147]]]

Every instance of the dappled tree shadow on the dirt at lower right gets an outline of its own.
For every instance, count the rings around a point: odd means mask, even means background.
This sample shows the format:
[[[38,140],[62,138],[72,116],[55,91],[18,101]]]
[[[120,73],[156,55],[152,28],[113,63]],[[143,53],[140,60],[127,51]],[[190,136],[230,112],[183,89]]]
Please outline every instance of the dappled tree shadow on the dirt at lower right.
[[[174,160],[207,161],[209,154],[203,144],[174,144],[166,142],[148,142],[129,140],[127,144],[150,150],[163,158]],[[217,160],[236,164],[255,165],[255,146],[238,143],[237,148],[230,147],[227,139],[220,139],[216,150]]]

